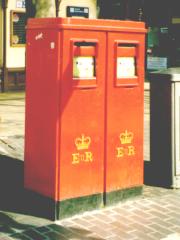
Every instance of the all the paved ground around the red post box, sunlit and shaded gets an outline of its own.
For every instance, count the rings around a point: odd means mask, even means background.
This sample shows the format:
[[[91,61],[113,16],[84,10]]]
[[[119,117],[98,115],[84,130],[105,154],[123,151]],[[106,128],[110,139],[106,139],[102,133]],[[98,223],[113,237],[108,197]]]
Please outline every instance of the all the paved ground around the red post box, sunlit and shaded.
[[[50,221],[23,188],[25,93],[0,94],[0,240],[180,240],[180,189],[143,186],[111,207]],[[150,161],[149,91],[144,160]]]

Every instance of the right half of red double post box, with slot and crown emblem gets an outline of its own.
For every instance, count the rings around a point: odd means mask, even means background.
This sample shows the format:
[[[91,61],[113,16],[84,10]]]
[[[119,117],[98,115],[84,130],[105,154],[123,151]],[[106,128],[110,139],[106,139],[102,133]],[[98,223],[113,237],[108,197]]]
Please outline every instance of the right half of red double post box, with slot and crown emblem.
[[[141,192],[143,185],[143,23],[108,33],[106,202]]]

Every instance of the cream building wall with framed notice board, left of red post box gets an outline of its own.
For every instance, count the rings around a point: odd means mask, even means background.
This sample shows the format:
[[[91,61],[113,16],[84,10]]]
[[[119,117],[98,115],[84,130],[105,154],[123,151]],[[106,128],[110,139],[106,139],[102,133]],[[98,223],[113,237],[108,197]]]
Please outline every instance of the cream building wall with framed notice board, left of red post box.
[[[25,1],[0,1],[0,89],[23,89],[25,82]]]

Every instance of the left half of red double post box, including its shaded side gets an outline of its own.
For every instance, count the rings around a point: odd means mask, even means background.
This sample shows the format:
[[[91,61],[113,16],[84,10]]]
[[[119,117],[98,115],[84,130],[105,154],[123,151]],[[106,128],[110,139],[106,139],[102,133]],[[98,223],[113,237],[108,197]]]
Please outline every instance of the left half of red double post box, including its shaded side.
[[[102,206],[106,33],[96,24],[28,23],[25,187],[52,200],[53,218]]]

